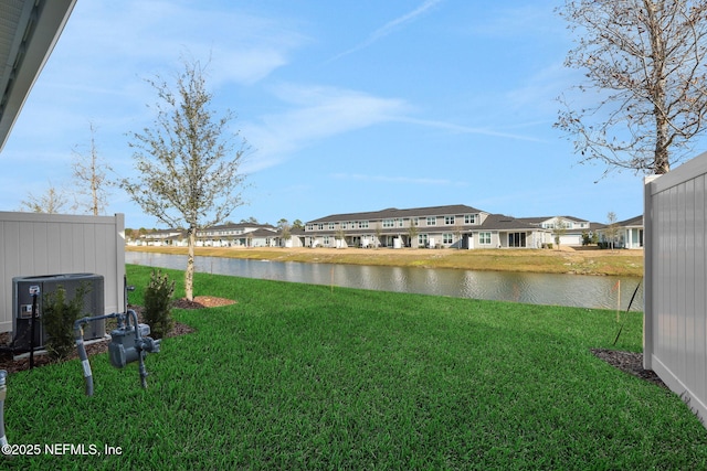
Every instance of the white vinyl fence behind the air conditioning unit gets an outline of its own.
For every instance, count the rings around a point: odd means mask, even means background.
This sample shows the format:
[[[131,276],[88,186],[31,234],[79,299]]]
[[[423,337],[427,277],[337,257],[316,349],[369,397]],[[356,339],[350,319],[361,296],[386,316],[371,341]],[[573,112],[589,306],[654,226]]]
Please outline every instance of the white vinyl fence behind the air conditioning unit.
[[[0,212],[0,333],[12,330],[12,278],[104,277],[105,312],[124,310],[125,217]]]

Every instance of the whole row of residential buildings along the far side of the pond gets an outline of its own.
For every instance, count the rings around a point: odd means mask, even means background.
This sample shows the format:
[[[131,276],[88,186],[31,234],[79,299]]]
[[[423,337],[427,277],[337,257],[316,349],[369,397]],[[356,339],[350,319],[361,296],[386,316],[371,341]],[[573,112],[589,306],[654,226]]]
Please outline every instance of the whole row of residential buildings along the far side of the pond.
[[[224,224],[197,233],[197,246],[209,247],[412,247],[542,248],[581,246],[587,237],[615,247],[643,247],[643,216],[603,224],[574,216],[511,217],[456,204],[333,214],[285,233],[270,224]],[[612,239],[612,240],[610,240]],[[157,231],[135,245],[186,246],[182,231]]]

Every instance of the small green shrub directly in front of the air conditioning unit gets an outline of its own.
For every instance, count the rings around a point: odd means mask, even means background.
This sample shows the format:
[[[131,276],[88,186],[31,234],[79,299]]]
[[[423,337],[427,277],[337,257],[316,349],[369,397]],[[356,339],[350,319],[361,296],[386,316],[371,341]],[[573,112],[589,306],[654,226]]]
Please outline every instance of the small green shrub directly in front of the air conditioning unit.
[[[84,297],[91,290],[82,283],[74,298],[66,299],[66,290],[59,285],[42,300],[42,325],[46,331],[44,347],[52,360],[63,360],[74,350],[74,322],[83,315]]]

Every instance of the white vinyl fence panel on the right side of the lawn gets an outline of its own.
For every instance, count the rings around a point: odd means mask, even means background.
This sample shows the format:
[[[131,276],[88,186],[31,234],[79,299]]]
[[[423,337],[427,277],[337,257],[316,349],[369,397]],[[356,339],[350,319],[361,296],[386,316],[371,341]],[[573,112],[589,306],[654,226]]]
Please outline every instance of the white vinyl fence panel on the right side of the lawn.
[[[707,153],[645,182],[643,364],[707,418]]]

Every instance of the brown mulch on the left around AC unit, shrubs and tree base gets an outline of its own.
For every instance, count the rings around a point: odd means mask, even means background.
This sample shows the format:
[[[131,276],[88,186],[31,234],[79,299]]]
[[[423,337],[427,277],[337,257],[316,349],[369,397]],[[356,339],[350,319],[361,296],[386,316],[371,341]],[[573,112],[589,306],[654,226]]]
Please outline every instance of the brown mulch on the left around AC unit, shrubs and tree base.
[[[203,308],[217,308],[221,306],[230,306],[234,304],[236,301],[232,301],[230,299],[223,298],[214,298],[210,296],[198,296],[193,301],[189,301],[187,299],[177,299],[173,302],[175,308],[179,309],[203,309]],[[141,321],[143,308],[140,306],[130,306],[130,309],[134,309],[138,314],[138,320]],[[181,322],[175,322],[175,328],[170,333],[167,334],[167,338],[186,335],[188,333],[194,332],[192,328]],[[8,345],[10,342],[9,334],[0,334],[0,345]],[[86,354],[88,356],[104,353],[108,351],[108,340],[99,341],[96,343],[92,343],[86,345]],[[0,370],[6,370],[9,374],[21,372],[30,368],[30,358],[23,357],[19,360],[12,358],[12,353],[10,352],[0,352]],[[78,357],[77,353],[72,353],[72,355],[66,360],[72,360]],[[61,361],[60,361],[61,362]],[[49,355],[38,355],[34,354],[34,367],[44,366],[52,363],[56,363],[50,360]]]

